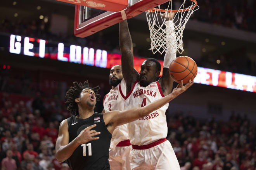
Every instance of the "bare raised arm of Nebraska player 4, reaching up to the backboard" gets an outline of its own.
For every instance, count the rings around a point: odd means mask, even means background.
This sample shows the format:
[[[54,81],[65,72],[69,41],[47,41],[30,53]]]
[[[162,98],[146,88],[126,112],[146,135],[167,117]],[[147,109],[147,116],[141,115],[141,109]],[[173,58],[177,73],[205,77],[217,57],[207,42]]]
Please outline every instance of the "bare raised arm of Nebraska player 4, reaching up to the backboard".
[[[121,50],[122,73],[126,83],[126,92],[130,92],[131,86],[138,80],[139,74],[133,68],[133,44],[127,20],[119,22],[119,45]]]

